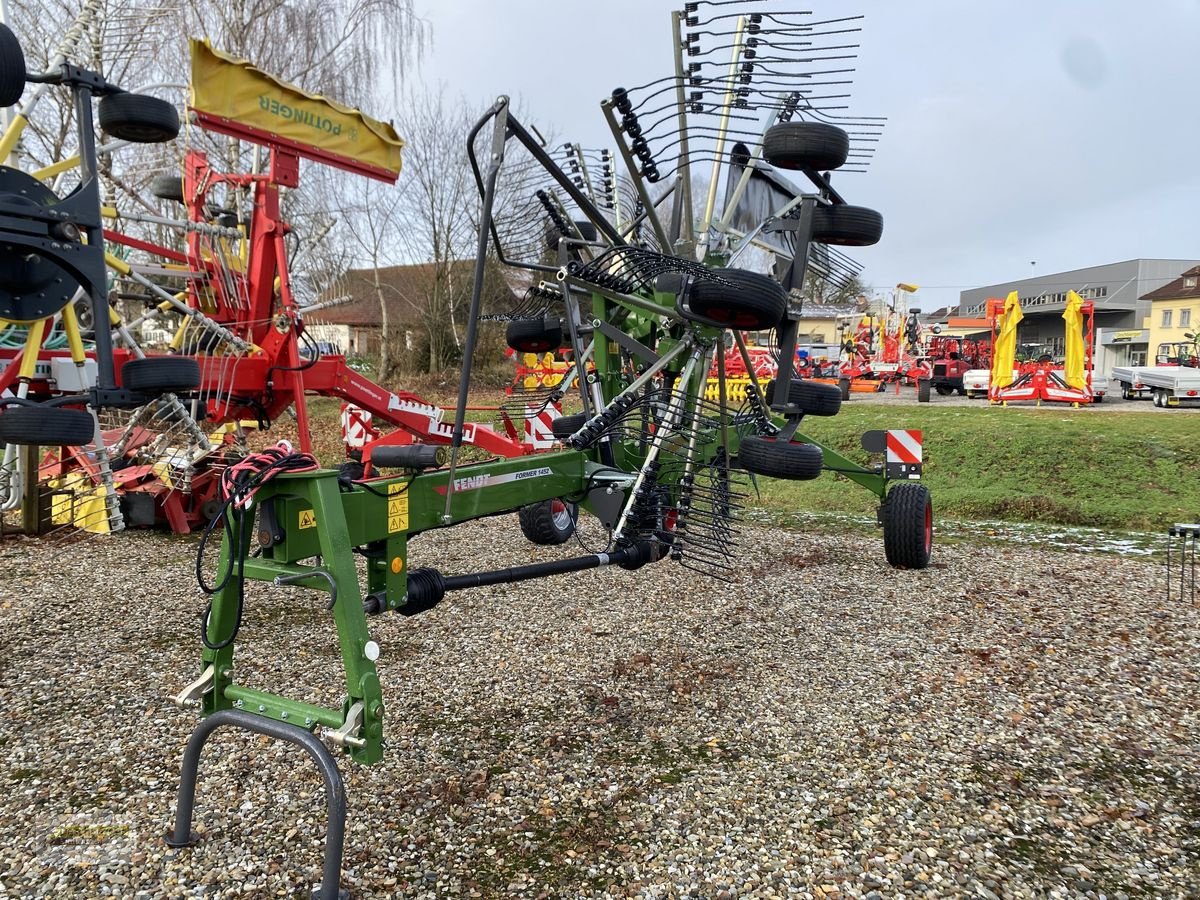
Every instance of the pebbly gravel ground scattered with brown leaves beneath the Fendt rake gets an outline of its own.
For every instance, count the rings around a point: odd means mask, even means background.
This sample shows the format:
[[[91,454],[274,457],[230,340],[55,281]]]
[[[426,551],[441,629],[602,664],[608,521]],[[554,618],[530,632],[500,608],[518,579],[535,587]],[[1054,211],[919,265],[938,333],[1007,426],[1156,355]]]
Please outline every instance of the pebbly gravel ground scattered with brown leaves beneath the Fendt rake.
[[[372,623],[390,746],[342,764],[356,898],[1200,896],[1198,618],[1160,563],[746,528],[733,583],[665,562]],[[515,517],[446,572],[546,558]],[[0,544],[0,896],[289,896],[319,881],[301,751],[216,732],[172,821],[194,541]],[[283,593],[281,593],[283,592]],[[336,702],[334,629],[251,595],[239,680]],[[268,602],[270,600],[270,602]]]

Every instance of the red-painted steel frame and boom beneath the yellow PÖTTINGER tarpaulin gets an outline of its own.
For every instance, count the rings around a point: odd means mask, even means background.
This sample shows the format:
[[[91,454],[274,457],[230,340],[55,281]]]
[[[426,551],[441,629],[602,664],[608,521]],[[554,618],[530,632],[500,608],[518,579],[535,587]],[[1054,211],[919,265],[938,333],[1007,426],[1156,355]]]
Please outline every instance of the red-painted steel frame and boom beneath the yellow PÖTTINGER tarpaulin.
[[[248,136],[247,136],[248,137]],[[257,137],[257,136],[256,136]],[[187,251],[179,253],[118,232],[106,232],[106,240],[139,251],[152,253],[176,264],[186,264],[200,278],[188,281],[188,304],[204,312],[238,337],[253,344],[246,356],[226,355],[196,356],[200,365],[199,396],[206,403],[210,422],[229,422],[241,419],[271,421],[288,407],[295,407],[300,446],[312,449],[308,395],[340,397],[368,410],[376,421],[395,426],[395,431],[383,436],[372,445],[408,444],[420,440],[427,444],[448,445],[451,442],[452,422],[443,421],[443,410],[409,391],[390,391],[350,368],[341,355],[318,356],[304,360],[300,355],[299,335],[304,322],[292,292],[287,247],[284,239],[290,230],[280,210],[280,187],[295,187],[300,182],[299,155],[282,144],[266,143],[269,166],[265,174],[235,175],[218,173],[209,164],[205,154],[190,150],[184,164],[184,198],[188,218],[193,222],[208,221],[206,208],[210,191],[217,185],[230,188],[253,190],[253,211],[247,232],[250,241],[245,271],[229,271],[210,251],[209,235],[190,232]],[[334,161],[322,160],[323,162]],[[347,168],[342,166],[342,168]],[[379,176],[379,173],[360,172]],[[220,239],[216,239],[220,240]],[[128,349],[114,349],[118,380],[121,366],[133,359]],[[23,352],[0,350],[0,391],[11,386],[18,376]],[[40,349],[38,360],[55,356],[68,358],[66,350]],[[48,394],[52,385],[35,380],[30,385],[32,395]],[[534,451],[522,440],[522,434],[512,422],[505,421],[505,432],[488,425],[468,424],[463,439],[496,456],[521,456]],[[131,445],[137,442],[131,442]],[[143,442],[144,443],[144,442]],[[364,457],[370,461],[368,445]],[[66,452],[53,463],[55,474],[82,466],[83,455]],[[202,508],[211,493],[206,476],[193,478],[192,494],[158,481],[150,467],[120,469],[115,478],[122,492],[144,491],[155,494],[163,517],[173,530],[187,533],[204,521]],[[95,476],[95,472],[91,472]]]

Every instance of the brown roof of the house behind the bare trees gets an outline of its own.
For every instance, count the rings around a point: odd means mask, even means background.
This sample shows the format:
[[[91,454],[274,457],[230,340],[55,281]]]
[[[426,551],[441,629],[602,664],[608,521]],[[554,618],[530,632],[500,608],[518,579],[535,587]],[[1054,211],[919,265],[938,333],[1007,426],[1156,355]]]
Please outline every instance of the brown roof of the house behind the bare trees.
[[[379,289],[376,288],[378,276]],[[359,328],[380,328],[383,313],[379,308],[380,294],[388,304],[391,324],[412,323],[420,318],[426,299],[433,292],[438,268],[433,263],[415,263],[413,265],[389,265],[377,269],[350,269],[326,290],[326,296],[350,296],[349,302],[318,310],[312,313],[313,322],[331,325],[354,325]],[[455,293],[469,294],[475,277],[475,260],[460,259],[449,265],[445,277]],[[514,298],[524,293],[521,280],[509,277],[505,271],[500,287],[492,282],[485,293],[484,308],[511,306]]]

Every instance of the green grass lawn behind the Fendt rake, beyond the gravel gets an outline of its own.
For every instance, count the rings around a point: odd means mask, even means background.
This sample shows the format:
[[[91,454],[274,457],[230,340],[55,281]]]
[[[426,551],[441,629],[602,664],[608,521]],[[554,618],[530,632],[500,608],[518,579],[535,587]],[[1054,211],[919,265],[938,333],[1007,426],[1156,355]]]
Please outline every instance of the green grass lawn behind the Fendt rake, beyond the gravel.
[[[454,385],[426,385],[428,400],[454,406]],[[492,390],[472,403],[498,403]],[[310,401],[323,462],[342,456],[338,402]],[[448,416],[452,418],[452,416]],[[468,413],[473,421],[492,414]],[[1162,530],[1200,517],[1200,420],[1188,414],[1067,408],[847,403],[800,431],[866,462],[859,437],[872,428],[920,428],[924,482],[938,517]],[[876,498],[836,474],[815,481],[758,479],[757,504],[790,514],[871,515]]]

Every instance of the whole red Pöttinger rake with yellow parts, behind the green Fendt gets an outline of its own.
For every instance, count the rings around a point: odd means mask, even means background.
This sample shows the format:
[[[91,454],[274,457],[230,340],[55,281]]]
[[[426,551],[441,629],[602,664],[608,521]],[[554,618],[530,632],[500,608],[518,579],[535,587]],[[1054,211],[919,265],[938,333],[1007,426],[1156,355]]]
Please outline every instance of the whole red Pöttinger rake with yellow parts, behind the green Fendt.
[[[203,70],[214,60],[233,65],[205,44],[193,42],[193,68]],[[288,85],[254,74],[263,82],[263,90],[290,96],[293,89]],[[374,431],[378,437],[370,440],[348,442],[348,452],[366,466],[376,444],[450,443],[452,421],[443,409],[413,392],[382,388],[352,368],[343,355],[320,353],[317,342],[305,334],[305,314],[317,307],[302,308],[290,283],[287,244],[292,227],[281,212],[281,188],[299,186],[300,157],[395,181],[398,138],[390,126],[358,112],[329,107],[329,115],[348,118],[347,130],[355,127],[374,138],[358,158],[350,158],[320,144],[268,132],[252,118],[234,119],[224,112],[218,98],[203,94],[192,109],[200,128],[265,148],[266,166],[258,174],[227,173],[205,152],[192,149],[185,154],[181,176],[156,178],[151,192],[186,209],[186,217],[170,222],[185,235],[182,250],[131,236],[115,224],[103,229],[109,271],[119,283],[143,295],[149,307],[128,323],[109,308],[116,371],[146,356],[134,334],[148,319],[162,316],[181,324],[169,354],[152,358],[156,374],[142,386],[174,389],[178,376],[197,364],[199,384],[188,391],[186,403],[158,401],[132,413],[101,416],[100,427],[94,434],[89,432],[88,442],[68,444],[42,457],[36,478],[18,475],[20,457],[10,449],[0,502],[6,508],[23,499],[37,504],[40,509],[28,518],[42,528],[71,524],[109,532],[126,523],[166,523],[176,533],[187,533],[208,522],[220,505],[216,491],[221,473],[247,451],[244,424],[268,427],[290,412],[300,449],[311,451],[306,403],[311,395],[340,397],[360,410],[360,420],[391,426],[386,434]],[[220,202],[222,196],[226,204],[229,198],[239,198],[240,203],[229,208]],[[107,214],[114,223],[145,218],[113,209]],[[128,262],[132,258],[144,262]],[[20,318],[19,312],[8,313],[18,323],[11,330],[24,329],[24,340],[7,349],[0,347],[0,391],[12,389],[36,401],[88,384],[95,364],[77,360],[85,353],[82,343],[78,348],[55,349],[50,340],[64,326],[70,334],[74,313],[73,301],[34,320]],[[30,366],[30,360],[36,365]],[[541,412],[534,409],[530,414]],[[467,425],[464,440],[494,456],[532,452],[534,445],[522,433],[528,430],[514,421],[523,415],[504,412],[503,431],[485,424]],[[31,466],[31,458],[26,457],[25,464]]]

